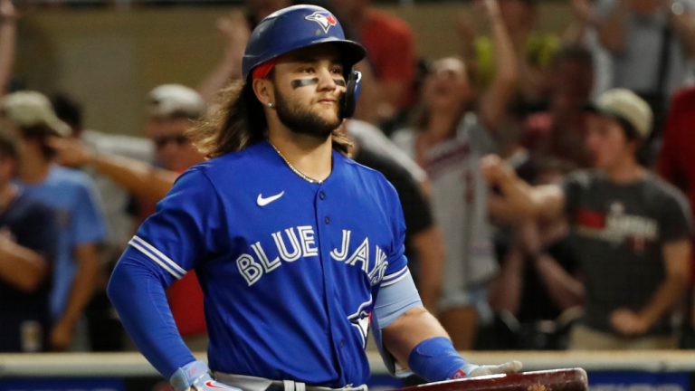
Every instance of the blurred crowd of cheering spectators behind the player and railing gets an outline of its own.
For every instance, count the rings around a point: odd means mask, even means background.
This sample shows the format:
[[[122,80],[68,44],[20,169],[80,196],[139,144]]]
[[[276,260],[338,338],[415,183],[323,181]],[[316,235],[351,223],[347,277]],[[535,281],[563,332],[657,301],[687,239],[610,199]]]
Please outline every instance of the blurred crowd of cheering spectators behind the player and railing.
[[[341,131],[398,191],[418,290],[456,348],[695,348],[695,1],[569,1],[551,33],[538,0],[474,0],[442,26],[451,55],[428,59],[370,0],[313,0],[367,47]],[[89,101],[13,77],[22,18],[0,0],[0,352],[132,348],[109,272],[205,160],[186,131],[241,78],[255,24],[290,2],[221,15],[220,62],[150,91],[132,137],[85,129]],[[205,350],[195,271],[167,297]]]

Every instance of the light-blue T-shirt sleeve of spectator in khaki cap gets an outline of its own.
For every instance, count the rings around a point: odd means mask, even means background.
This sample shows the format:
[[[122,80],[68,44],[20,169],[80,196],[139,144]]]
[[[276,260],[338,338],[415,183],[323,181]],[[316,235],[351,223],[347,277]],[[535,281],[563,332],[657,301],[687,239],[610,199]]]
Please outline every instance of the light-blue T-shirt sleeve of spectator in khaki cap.
[[[71,215],[71,230],[75,245],[98,243],[106,236],[106,224],[101,202],[89,177],[75,191]]]

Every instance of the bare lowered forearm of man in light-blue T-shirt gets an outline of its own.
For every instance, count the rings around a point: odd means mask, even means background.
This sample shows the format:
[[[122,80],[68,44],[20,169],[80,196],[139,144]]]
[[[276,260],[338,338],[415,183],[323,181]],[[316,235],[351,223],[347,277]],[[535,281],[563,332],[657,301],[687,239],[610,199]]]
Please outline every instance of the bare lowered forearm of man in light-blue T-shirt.
[[[67,305],[59,320],[69,329],[77,323],[82,311],[91,300],[99,270],[97,245],[92,243],[78,245],[75,249],[75,259],[77,260],[77,273],[72,281]]]

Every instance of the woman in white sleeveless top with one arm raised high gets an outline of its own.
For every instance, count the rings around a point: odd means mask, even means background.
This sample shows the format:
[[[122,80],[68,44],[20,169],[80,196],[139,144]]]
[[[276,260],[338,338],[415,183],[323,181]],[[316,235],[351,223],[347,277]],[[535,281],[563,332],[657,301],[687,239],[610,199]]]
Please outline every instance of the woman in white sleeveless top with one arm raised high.
[[[478,160],[495,150],[505,110],[517,81],[509,35],[496,0],[483,0],[500,60],[494,81],[473,110],[475,95],[467,64],[457,58],[434,62],[425,78],[424,110],[414,127],[393,138],[432,181],[435,220],[442,227],[446,257],[439,318],[454,346],[471,348],[479,315],[489,313],[485,284],[497,272],[488,221],[487,186]]]

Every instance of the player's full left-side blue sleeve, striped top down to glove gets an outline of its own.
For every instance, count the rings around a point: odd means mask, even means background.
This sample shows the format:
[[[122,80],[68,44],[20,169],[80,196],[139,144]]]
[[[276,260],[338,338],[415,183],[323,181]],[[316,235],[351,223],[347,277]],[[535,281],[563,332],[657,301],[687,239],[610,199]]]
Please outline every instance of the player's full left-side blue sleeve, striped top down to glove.
[[[216,250],[224,219],[214,186],[193,168],[138,229],[109,281],[109,299],[142,354],[164,376],[195,360],[176,329],[165,288]]]

